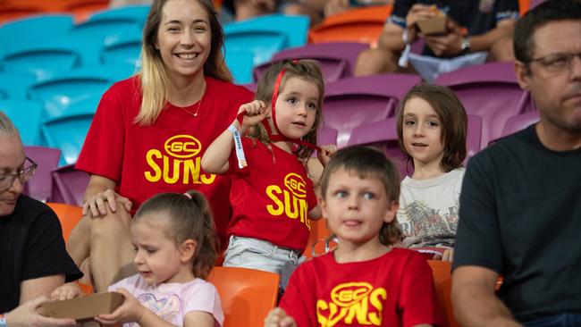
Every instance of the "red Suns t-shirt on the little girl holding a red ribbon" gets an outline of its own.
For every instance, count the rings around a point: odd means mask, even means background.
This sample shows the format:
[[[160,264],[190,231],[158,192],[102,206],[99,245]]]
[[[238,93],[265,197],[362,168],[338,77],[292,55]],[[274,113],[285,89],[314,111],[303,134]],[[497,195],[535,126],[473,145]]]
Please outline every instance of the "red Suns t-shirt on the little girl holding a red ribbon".
[[[302,251],[310,231],[308,212],[316,206],[313,182],[304,164],[280,147],[271,145],[271,151],[258,140],[241,139],[248,167],[239,171],[232,151],[233,214],[228,234]]]

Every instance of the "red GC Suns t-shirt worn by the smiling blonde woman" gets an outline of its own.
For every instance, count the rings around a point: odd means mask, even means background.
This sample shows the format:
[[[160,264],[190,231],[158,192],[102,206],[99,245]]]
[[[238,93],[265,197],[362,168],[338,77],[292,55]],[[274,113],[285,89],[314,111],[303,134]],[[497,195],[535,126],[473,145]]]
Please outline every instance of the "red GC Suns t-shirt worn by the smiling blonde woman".
[[[240,105],[252,100],[248,89],[206,78],[198,103],[168,105],[151,126],[134,123],[141,105],[139,78],[109,88],[97,108],[76,168],[117,183],[117,192],[133,202],[132,213],[147,198],[162,192],[197,189],[206,195],[224,240],[230,220],[229,180],[201,170],[206,148],[234,120]]]

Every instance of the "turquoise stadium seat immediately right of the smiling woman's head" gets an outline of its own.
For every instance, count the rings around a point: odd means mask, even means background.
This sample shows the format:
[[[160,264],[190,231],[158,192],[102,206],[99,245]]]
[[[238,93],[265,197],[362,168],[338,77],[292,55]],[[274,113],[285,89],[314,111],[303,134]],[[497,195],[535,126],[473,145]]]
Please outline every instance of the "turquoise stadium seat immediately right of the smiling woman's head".
[[[307,44],[307,16],[270,14],[224,24],[225,55],[231,49],[250,50],[254,65],[269,61],[277,52]]]

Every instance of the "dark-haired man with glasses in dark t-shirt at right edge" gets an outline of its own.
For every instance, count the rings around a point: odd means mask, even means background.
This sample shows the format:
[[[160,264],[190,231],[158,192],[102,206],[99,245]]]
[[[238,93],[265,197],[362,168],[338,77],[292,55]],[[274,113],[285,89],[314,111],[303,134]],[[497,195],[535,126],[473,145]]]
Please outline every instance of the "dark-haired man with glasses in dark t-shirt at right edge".
[[[467,166],[455,314],[463,326],[581,326],[581,2],[526,13],[514,50],[541,120]]]

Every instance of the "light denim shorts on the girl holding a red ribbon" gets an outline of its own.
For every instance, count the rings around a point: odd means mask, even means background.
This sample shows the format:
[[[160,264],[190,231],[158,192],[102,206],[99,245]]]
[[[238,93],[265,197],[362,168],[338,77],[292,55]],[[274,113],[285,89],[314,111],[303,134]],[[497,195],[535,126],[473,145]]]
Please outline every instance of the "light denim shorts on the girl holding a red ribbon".
[[[287,247],[277,247],[262,239],[231,236],[224,267],[257,269],[265,272],[281,273],[285,264],[300,264],[302,251]]]

